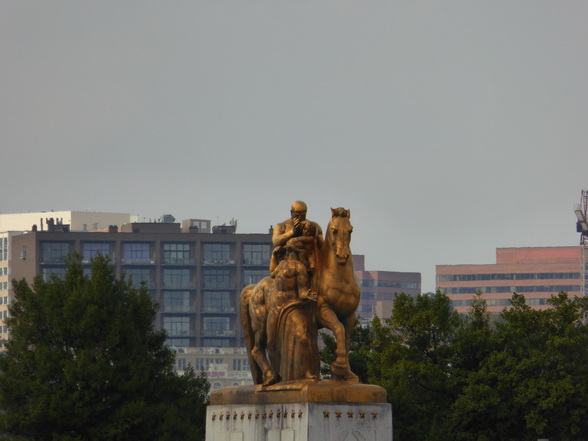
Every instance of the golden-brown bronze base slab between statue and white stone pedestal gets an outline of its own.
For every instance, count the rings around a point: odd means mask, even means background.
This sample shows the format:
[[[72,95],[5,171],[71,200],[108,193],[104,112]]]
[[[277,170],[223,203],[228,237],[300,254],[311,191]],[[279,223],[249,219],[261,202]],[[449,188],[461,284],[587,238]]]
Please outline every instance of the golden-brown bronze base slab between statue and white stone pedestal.
[[[210,394],[210,404],[385,403],[386,390],[373,384],[337,380],[298,380],[272,386],[237,386]]]

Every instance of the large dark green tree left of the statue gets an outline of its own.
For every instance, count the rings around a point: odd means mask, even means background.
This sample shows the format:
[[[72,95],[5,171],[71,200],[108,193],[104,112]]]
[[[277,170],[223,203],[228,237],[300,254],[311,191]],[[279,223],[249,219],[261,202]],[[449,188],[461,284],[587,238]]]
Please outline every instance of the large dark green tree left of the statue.
[[[85,275],[13,282],[10,339],[0,356],[0,431],[7,439],[203,439],[208,383],[173,371],[145,287],[108,260]]]

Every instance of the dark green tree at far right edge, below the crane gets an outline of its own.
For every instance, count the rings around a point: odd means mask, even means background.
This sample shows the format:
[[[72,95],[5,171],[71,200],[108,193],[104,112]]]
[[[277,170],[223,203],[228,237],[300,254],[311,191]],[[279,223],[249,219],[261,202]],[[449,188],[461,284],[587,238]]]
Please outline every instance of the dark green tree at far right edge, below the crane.
[[[586,439],[587,299],[560,293],[539,311],[515,293],[511,303],[453,405],[454,439]]]

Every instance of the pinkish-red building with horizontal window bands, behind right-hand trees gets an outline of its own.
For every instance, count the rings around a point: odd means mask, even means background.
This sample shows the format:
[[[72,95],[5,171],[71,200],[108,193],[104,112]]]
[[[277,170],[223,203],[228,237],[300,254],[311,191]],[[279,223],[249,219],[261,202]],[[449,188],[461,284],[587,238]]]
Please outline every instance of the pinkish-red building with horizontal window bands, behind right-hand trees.
[[[510,306],[514,292],[533,308],[546,309],[546,300],[561,291],[581,295],[579,247],[497,248],[496,263],[437,265],[437,287],[458,312],[467,312],[477,292],[488,311]]]

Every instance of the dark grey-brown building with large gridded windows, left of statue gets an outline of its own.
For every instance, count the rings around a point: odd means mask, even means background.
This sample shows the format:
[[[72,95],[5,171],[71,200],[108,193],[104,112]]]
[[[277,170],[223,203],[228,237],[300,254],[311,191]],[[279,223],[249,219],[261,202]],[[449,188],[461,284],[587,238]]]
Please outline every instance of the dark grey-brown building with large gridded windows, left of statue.
[[[145,285],[159,304],[155,328],[164,329],[167,344],[176,348],[178,370],[190,363],[222,385],[250,378],[239,294],[269,274],[269,232],[237,234],[236,223],[211,227],[202,219],[109,225],[92,232],[73,231],[61,221],[45,224],[42,231],[11,238],[12,278],[61,277],[72,253],[81,256],[89,273],[91,259],[106,256],[118,277]]]

